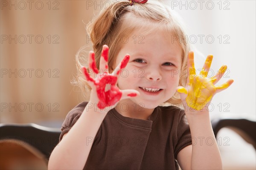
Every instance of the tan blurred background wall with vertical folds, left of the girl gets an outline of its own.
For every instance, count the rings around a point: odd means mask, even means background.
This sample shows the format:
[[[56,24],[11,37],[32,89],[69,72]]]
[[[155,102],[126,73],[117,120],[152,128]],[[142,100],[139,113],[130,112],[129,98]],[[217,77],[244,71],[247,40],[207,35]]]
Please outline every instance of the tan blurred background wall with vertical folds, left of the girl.
[[[63,122],[82,102],[70,80],[90,45],[84,23],[102,8],[91,2],[1,0],[1,123]]]

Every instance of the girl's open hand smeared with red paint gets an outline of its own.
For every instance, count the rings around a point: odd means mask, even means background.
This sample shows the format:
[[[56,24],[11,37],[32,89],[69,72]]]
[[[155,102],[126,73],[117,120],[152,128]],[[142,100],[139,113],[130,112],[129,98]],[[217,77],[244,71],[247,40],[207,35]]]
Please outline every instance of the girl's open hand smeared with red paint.
[[[127,65],[130,56],[127,54],[116,69],[110,74],[108,72],[108,46],[103,45],[102,55],[100,58],[99,69],[96,67],[95,54],[93,51],[89,52],[89,68],[93,71],[95,78],[91,77],[87,69],[82,67],[84,76],[88,84],[92,88],[90,93],[90,101],[96,107],[96,111],[108,112],[122,99],[128,99],[140,95],[136,90],[120,90],[117,85],[117,78],[123,68]]]

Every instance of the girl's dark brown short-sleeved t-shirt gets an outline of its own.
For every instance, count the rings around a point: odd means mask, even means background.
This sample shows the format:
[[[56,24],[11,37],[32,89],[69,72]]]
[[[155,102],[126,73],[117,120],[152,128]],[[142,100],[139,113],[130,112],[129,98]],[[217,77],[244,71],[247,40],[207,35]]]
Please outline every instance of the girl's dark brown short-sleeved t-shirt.
[[[67,114],[60,141],[86,105],[82,102]],[[178,170],[177,154],[190,144],[189,125],[180,108],[158,106],[148,120],[122,116],[113,108],[96,134],[84,170]]]

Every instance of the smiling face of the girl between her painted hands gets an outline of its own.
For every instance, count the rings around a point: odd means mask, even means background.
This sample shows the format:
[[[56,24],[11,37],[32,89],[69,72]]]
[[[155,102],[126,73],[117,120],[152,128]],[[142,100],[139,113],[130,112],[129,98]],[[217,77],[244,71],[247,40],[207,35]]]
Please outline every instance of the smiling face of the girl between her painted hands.
[[[177,41],[172,42],[161,32],[145,36],[143,31],[137,32],[129,37],[117,54],[114,68],[126,54],[130,55],[130,60],[118,78],[118,87],[140,92],[140,96],[128,100],[152,109],[175,94],[182,56],[182,48]]]

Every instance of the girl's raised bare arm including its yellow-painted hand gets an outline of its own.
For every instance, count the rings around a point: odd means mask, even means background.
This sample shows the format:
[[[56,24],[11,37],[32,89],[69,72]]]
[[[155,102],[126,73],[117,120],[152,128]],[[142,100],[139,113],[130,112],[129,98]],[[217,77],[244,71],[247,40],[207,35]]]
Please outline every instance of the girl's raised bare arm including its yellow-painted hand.
[[[209,55],[200,75],[197,75],[194,67],[194,53],[189,52],[187,84],[185,88],[182,86],[177,88],[192,136],[192,145],[183,148],[177,155],[182,169],[222,169],[221,154],[212,130],[207,104],[216,93],[228,88],[233,80],[215,86],[224,75],[227,66],[223,65],[214,77],[207,78],[211,62],[212,55]]]

